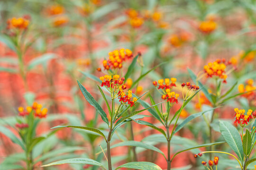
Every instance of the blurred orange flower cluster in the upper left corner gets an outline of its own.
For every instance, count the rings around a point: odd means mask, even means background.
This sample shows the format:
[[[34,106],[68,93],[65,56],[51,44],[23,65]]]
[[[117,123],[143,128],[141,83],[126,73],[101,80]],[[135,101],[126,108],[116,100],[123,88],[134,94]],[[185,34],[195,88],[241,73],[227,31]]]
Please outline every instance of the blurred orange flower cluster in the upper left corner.
[[[13,17],[7,21],[7,25],[8,25],[7,28],[8,29],[12,29],[12,28],[26,29],[28,24],[29,24],[29,20],[27,20],[24,17],[19,17],[19,18]]]

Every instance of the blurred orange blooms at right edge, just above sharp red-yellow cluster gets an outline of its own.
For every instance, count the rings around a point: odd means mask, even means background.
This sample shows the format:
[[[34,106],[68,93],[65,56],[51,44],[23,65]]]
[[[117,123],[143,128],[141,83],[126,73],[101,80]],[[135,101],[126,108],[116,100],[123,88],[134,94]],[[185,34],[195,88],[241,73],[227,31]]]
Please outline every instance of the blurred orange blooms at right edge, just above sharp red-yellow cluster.
[[[249,100],[256,99],[256,86],[253,85],[253,79],[248,79],[246,82],[246,85],[240,84],[238,85],[238,91],[239,93],[245,93],[242,96],[246,97]]]

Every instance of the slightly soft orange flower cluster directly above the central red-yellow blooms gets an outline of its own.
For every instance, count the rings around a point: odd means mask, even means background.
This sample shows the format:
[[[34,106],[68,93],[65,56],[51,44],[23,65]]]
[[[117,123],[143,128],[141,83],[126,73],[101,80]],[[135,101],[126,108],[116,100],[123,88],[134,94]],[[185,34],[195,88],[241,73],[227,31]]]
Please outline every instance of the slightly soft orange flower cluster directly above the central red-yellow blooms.
[[[133,57],[129,49],[120,49],[109,52],[109,59],[103,60],[103,67],[106,70],[122,68],[122,62]]]

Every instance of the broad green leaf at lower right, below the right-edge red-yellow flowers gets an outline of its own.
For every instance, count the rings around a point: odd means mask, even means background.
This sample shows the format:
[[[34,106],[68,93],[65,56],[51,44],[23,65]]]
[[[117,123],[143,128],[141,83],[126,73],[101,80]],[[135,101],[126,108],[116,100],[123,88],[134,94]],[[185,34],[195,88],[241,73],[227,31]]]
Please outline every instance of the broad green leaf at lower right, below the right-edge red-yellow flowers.
[[[219,121],[219,129],[225,141],[229,144],[231,149],[238,155],[241,161],[244,160],[243,145],[241,136],[236,127],[229,122]]]

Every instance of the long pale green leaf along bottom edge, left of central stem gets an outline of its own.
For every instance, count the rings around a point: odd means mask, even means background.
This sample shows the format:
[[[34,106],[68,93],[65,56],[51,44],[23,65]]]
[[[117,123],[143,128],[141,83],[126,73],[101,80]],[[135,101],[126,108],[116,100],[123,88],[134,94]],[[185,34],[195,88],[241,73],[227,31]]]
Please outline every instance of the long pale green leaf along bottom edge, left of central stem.
[[[52,166],[52,165],[61,165],[61,164],[65,164],[65,163],[88,164],[88,165],[100,166],[103,168],[103,165],[100,162],[94,161],[89,158],[72,158],[72,159],[66,159],[66,160],[61,160],[61,161],[55,161],[52,163],[48,163],[46,165],[42,165],[42,167],[47,167],[47,166]]]

